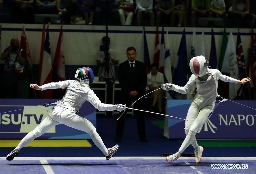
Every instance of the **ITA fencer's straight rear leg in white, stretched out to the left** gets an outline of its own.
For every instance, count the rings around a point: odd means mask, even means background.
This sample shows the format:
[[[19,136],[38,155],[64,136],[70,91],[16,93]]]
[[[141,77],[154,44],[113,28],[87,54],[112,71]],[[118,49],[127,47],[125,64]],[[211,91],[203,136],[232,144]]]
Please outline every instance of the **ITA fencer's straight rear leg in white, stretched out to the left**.
[[[18,146],[15,148],[17,150],[20,150],[30,142],[32,142],[35,138],[41,136],[44,134],[47,130],[51,129],[53,126],[58,125],[59,123],[54,121],[50,118],[48,115],[41,123],[38,125],[34,130],[26,134],[24,138],[20,141]]]

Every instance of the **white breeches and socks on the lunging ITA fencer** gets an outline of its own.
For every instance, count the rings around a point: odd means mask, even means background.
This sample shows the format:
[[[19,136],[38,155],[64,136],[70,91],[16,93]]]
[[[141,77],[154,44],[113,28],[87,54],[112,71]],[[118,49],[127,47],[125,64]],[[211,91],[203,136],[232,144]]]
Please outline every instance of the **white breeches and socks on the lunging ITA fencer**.
[[[100,148],[104,155],[108,154],[108,149],[102,142],[102,139],[96,132],[96,128],[92,123],[84,117],[79,116],[71,109],[55,106],[53,111],[38,125],[34,130],[29,132],[18,144],[15,149],[20,150],[35,138],[44,134],[53,126],[64,124],[74,129],[82,130],[90,134],[93,142]]]

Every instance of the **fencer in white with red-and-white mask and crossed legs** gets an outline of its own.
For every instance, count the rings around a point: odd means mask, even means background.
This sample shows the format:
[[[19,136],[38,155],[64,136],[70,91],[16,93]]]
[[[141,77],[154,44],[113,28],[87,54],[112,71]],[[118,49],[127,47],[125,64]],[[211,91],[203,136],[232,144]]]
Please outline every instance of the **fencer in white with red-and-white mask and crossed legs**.
[[[192,144],[195,148],[195,160],[197,163],[201,162],[202,153],[204,148],[198,146],[195,135],[197,131],[207,122],[214,110],[216,97],[218,96],[218,79],[225,82],[233,82],[244,84],[250,82],[250,78],[237,80],[229,76],[221,74],[217,69],[209,69],[208,61],[204,56],[193,57],[189,63],[191,72],[193,73],[185,86],[177,86],[175,84],[162,84],[165,90],[174,90],[181,94],[187,94],[191,88],[196,85],[197,94],[193,99],[185,121],[185,134],[186,138],[181,144],[176,154],[166,157],[166,161],[173,162],[177,160],[184,150]]]

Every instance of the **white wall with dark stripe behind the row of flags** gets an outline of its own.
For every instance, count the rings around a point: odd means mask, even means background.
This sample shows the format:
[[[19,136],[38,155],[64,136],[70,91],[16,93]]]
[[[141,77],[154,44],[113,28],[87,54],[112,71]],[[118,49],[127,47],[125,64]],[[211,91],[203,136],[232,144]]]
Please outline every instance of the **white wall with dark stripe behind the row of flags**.
[[[23,24],[2,24],[2,39],[1,39],[1,53],[6,47],[8,47],[11,38],[17,37],[20,39]],[[42,38],[42,24],[26,24],[26,36],[28,38],[28,43],[30,46],[32,63],[38,64],[40,57],[40,47]],[[47,27],[47,26],[46,26]],[[57,40],[59,36],[60,25],[49,25],[49,29],[53,30],[49,32],[50,43],[51,43],[51,55],[54,58],[55,49],[57,45]],[[12,31],[17,30],[20,31]],[[33,31],[33,30],[37,31]],[[129,46],[134,46],[137,49],[137,58],[139,59],[140,49],[141,49],[141,38],[142,38],[142,27],[139,26],[109,26],[109,37],[111,38],[111,47],[117,50],[119,56],[119,63],[127,59],[125,53]],[[32,30],[32,31],[31,31]],[[66,65],[96,65],[96,53],[101,45],[101,38],[105,36],[105,26],[78,26],[78,25],[63,25],[63,51],[65,55]],[[145,27],[146,32],[155,32],[156,27]],[[165,31],[169,32],[182,32],[181,27],[165,27]],[[187,42],[187,55],[190,57],[190,49],[192,42],[192,32],[193,28],[185,28],[186,32],[191,32],[186,34]],[[159,27],[159,31],[162,31],[162,27]],[[211,28],[196,28],[196,32],[211,32]],[[256,30],[255,30],[256,31]],[[121,33],[120,33],[121,32]],[[134,33],[137,32],[137,33]],[[214,28],[215,42],[217,56],[220,54],[220,47],[222,41],[223,28]],[[219,33],[221,32],[221,33]],[[237,32],[236,28],[227,28],[226,32]],[[241,40],[243,45],[243,52],[245,55],[245,61],[248,58],[248,49],[251,44],[251,29],[240,29]],[[247,35],[245,35],[247,34]],[[200,41],[200,35],[197,35],[197,40]],[[150,61],[153,62],[154,57],[154,45],[155,45],[155,33],[146,34]],[[174,65],[177,51],[179,48],[179,43],[181,40],[180,34],[169,34],[169,45],[172,57],[172,65]],[[236,45],[236,35],[234,36],[234,45]],[[159,34],[159,39],[161,42],[161,34]],[[210,33],[205,34],[205,57],[209,58],[210,46],[211,46],[211,35]],[[165,39],[166,41],[166,39]],[[0,63],[3,63],[1,61]]]

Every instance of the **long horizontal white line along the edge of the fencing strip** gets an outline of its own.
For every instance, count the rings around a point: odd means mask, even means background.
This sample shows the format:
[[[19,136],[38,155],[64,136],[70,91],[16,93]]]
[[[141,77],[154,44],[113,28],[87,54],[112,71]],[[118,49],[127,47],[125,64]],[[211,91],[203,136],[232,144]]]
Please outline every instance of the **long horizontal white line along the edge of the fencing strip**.
[[[120,159],[159,159],[165,160],[166,157],[158,156],[116,156],[112,157],[110,160],[120,160]],[[6,160],[6,157],[0,157],[1,160]],[[45,157],[47,160],[105,160],[105,157]],[[195,157],[179,157],[177,160],[188,160],[195,159]],[[256,157],[202,157],[203,160],[256,160]],[[15,157],[13,160],[38,160],[38,157]]]

